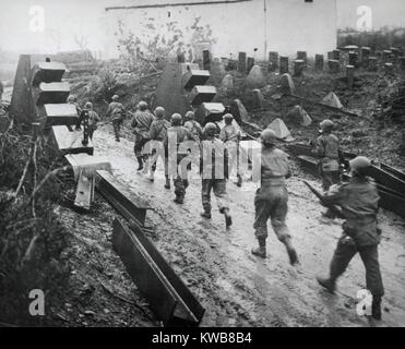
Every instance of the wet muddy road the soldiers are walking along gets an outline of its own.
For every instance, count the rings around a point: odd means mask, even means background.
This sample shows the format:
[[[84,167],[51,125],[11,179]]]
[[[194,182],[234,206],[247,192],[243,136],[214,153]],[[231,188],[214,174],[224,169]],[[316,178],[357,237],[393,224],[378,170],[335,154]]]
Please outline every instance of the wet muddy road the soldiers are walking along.
[[[136,172],[133,143],[126,139],[116,143],[110,129],[107,125],[96,131],[95,155],[107,156],[112,173],[154,207],[147,214],[147,224],[155,231],[150,238],[206,309],[202,326],[405,325],[405,222],[400,217],[388,212],[379,217],[385,297],[383,321],[374,323],[356,312],[356,294],[366,282],[359,256],[340,279],[336,294],[318,286],[315,275],[327,273],[342,221],[321,218],[322,206],[298,177],[288,180],[287,224],[301,262],[291,267],[271,228],[269,258],[250,253],[257,244],[252,228],[255,184],[247,182],[239,189],[228,182],[234,226],[226,230],[214,197],[213,219],[200,217],[201,180],[195,168],[184,204],[176,205],[172,189],[164,189],[162,164],[151,183]],[[320,188],[313,178],[312,183]]]

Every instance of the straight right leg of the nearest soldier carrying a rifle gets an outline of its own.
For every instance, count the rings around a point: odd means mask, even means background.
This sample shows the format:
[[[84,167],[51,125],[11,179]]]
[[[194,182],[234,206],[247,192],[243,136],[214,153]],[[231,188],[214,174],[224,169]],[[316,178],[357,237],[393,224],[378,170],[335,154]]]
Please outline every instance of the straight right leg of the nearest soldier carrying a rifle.
[[[380,272],[378,246],[359,249],[360,257],[366,267],[367,289],[372,294],[372,316],[381,320],[381,298],[384,296],[384,286]]]

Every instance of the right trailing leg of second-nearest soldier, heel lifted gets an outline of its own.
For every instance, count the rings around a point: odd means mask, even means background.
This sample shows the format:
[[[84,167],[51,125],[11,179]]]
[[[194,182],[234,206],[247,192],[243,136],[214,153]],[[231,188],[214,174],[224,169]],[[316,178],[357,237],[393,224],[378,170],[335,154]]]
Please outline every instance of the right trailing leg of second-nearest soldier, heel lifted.
[[[278,240],[286,246],[289,263],[291,265],[298,263],[298,255],[291,242],[291,236],[286,225],[288,213],[288,193],[286,188],[275,188],[276,195],[273,209],[271,212],[272,227]]]

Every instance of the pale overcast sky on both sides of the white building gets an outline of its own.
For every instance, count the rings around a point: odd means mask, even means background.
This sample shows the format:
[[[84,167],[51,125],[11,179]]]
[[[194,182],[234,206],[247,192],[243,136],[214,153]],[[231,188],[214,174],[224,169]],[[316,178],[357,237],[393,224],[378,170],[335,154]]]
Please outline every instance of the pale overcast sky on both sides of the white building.
[[[46,50],[51,53],[58,50],[80,49],[78,40],[84,39],[91,50],[103,50],[103,25],[106,15],[104,9],[122,2],[122,0],[0,0],[0,49],[19,52]],[[136,0],[127,2],[136,3]],[[405,0],[337,0],[337,3],[340,27],[356,25],[356,9],[361,4],[368,4],[372,9],[374,27],[384,25],[405,27]],[[45,9],[44,32],[32,31],[29,9],[33,5]]]

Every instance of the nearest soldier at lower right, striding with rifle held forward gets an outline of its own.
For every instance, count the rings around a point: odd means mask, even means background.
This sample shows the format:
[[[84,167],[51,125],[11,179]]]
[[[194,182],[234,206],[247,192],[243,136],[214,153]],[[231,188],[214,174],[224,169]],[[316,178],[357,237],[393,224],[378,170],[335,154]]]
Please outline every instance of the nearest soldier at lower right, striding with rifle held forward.
[[[366,176],[371,163],[358,156],[350,160],[352,179],[343,185],[334,185],[324,196],[326,205],[342,207],[345,222],[343,233],[334,252],[329,277],[317,277],[318,282],[331,293],[336,288],[336,279],[358,252],[366,267],[367,289],[372,294],[372,317],[381,320],[381,298],[384,288],[378,258],[381,230],[377,224],[379,194],[376,184]]]

